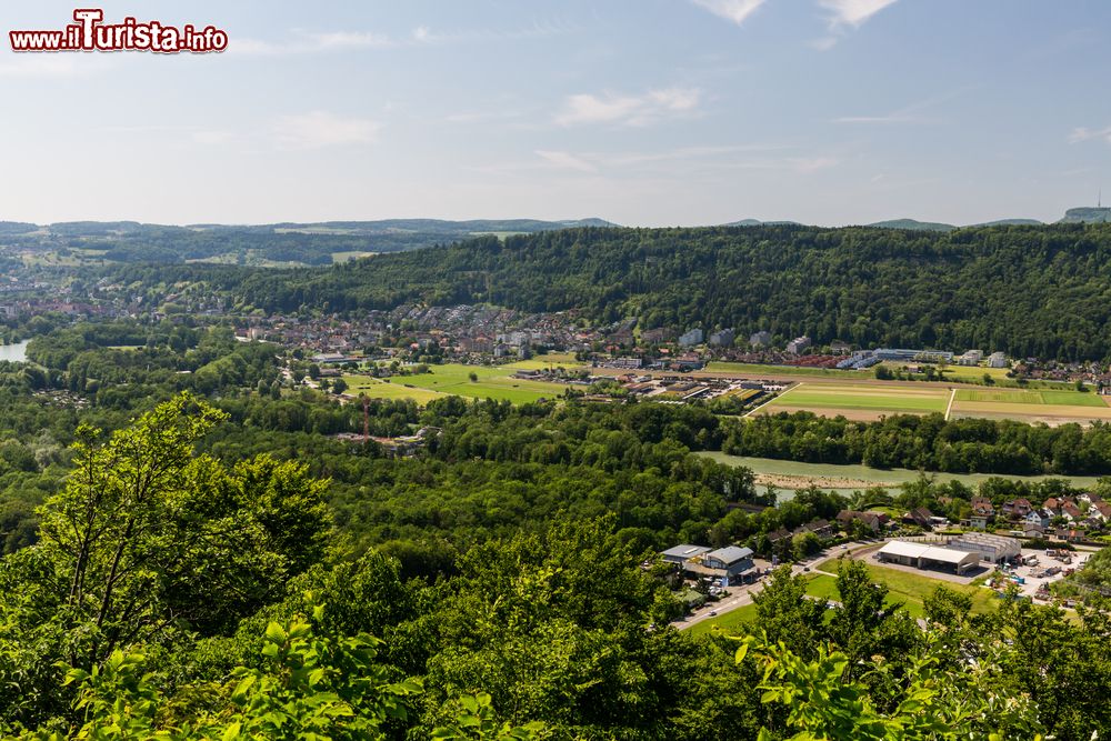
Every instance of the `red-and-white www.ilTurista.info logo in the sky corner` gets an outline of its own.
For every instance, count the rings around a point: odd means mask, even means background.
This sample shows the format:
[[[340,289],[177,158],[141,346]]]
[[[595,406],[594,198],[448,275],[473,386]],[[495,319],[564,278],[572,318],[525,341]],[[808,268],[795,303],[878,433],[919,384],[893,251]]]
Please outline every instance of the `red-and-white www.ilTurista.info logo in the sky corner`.
[[[124,18],[120,23],[104,23],[104,11],[79,8],[76,23],[58,31],[9,31],[12,51],[157,51],[208,53],[228,48],[228,33],[214,26],[180,28],[159,21],[139,22]]]

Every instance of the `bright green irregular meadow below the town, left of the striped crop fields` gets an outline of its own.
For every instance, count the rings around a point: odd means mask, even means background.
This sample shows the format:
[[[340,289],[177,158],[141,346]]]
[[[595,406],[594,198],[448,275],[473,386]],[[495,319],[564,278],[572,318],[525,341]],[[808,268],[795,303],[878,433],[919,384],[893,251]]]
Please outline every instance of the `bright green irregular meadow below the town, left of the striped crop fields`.
[[[349,393],[362,392],[378,399],[414,399],[420,403],[443,394],[528,403],[559,397],[568,388],[561,383],[512,378],[517,369],[509,366],[490,368],[448,363],[430,366],[430,373],[419,375],[397,375],[389,383],[366,375],[346,375],[343,380],[350,387]],[[471,373],[477,380],[470,379]]]

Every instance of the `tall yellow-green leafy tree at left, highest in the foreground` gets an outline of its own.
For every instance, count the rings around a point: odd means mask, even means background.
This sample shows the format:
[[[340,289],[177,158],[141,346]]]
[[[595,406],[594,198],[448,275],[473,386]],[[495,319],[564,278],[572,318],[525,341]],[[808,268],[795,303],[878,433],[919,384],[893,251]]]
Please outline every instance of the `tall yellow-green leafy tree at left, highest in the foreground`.
[[[0,722],[59,710],[57,661],[217,634],[323,554],[326,483],[269,457],[228,468],[194,444],[223,419],[188,394],[97,444],[84,428],[38,544],[0,562]]]

